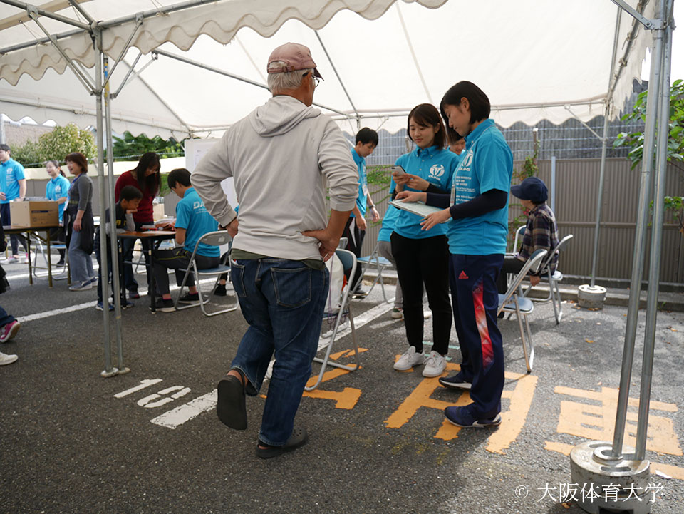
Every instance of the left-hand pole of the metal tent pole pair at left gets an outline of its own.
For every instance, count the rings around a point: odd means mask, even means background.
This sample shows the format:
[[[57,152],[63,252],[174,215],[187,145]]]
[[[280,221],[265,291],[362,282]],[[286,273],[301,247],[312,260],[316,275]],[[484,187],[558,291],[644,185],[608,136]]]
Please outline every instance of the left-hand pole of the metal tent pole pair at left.
[[[100,281],[102,285],[102,299],[103,299],[103,331],[105,335],[105,369],[100,373],[100,376],[108,377],[118,374],[118,369],[112,366],[112,355],[109,334],[109,281],[107,277],[107,233],[105,227],[107,226],[107,219],[105,217],[105,210],[107,208],[105,202],[105,154],[104,154],[104,134],[103,134],[103,112],[102,112],[102,32],[95,29],[95,103],[97,106],[98,117],[98,185],[100,186],[100,277],[104,280]]]

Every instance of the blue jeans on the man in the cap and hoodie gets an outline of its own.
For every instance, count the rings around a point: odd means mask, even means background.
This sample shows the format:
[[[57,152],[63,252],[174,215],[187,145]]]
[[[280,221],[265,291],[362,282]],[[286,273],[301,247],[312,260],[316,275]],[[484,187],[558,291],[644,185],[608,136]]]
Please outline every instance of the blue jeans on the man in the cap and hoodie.
[[[275,354],[259,440],[282,446],[292,434],[301,394],[311,376],[328,295],[328,269],[287,259],[231,261],[231,278],[249,328],[231,369],[247,377],[247,394],[259,394]]]

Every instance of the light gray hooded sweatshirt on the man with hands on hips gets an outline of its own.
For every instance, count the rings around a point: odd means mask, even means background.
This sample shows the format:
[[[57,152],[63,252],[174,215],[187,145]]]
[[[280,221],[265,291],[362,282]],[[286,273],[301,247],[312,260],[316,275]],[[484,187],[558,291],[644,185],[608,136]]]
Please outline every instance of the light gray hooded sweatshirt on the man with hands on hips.
[[[233,248],[281,259],[321,259],[305,230],[328,225],[330,207],[353,209],[358,173],[337,124],[291,96],[274,96],[232,125],[190,175],[220,225],[234,219],[221,181],[234,178],[240,208]]]

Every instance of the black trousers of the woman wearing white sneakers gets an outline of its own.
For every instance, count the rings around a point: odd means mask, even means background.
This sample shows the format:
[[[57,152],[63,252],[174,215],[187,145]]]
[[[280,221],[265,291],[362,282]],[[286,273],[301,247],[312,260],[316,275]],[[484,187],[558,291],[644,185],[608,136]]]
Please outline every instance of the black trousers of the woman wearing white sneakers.
[[[403,293],[406,339],[423,351],[423,284],[432,311],[432,349],[446,355],[451,334],[449,245],[445,235],[410,239],[392,232],[392,254]]]

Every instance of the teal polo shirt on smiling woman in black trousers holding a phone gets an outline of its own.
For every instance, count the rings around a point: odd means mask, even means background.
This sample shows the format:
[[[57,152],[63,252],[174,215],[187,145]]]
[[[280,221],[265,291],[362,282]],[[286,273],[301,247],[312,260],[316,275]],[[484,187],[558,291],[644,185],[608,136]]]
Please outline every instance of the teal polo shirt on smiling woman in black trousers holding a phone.
[[[430,148],[418,148],[411,153],[405,153],[397,159],[396,165],[404,168],[406,173],[417,175],[424,178],[427,182],[436,185],[444,192],[448,192],[452,183],[456,167],[459,162],[459,156],[449,150],[430,146]],[[394,190],[395,183],[392,180],[390,190]],[[405,191],[415,191],[411,187],[404,186]],[[437,235],[445,235],[447,226],[445,223],[440,223],[430,230],[421,230],[420,220],[423,220],[417,214],[408,212],[408,210],[399,210],[395,221],[394,232],[403,237],[410,239],[425,239],[425,237],[435,237]]]

